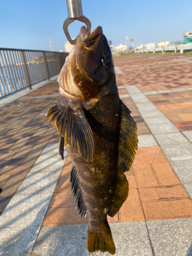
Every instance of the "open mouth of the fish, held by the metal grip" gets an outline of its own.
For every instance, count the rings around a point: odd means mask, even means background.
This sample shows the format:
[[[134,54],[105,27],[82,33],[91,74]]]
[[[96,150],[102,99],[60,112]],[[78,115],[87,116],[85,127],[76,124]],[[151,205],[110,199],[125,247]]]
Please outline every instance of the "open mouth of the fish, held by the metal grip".
[[[80,28],[80,36],[83,45],[86,47],[89,47],[89,45],[92,45],[91,43],[96,42],[103,34],[103,30],[101,26],[98,26],[89,36],[86,26],[82,26]]]

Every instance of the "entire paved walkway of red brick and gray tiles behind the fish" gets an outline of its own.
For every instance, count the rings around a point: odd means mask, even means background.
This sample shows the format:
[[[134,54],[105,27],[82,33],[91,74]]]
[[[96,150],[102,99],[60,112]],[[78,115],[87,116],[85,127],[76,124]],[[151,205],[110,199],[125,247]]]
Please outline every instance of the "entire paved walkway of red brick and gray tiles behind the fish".
[[[192,255],[192,58],[114,58],[119,94],[137,122],[129,198],[109,218],[117,256]],[[1,103],[1,102],[0,102]],[[89,216],[79,219],[71,160],[58,154],[56,81],[4,106],[0,124],[0,255],[84,256]],[[90,255],[110,255],[100,252]]]

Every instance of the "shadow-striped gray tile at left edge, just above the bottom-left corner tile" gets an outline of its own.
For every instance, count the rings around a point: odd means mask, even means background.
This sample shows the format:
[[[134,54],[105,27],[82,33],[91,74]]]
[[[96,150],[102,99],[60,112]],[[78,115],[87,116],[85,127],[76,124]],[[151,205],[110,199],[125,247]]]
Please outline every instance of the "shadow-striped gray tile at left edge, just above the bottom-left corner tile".
[[[0,227],[39,226],[52,194],[14,196],[0,216]]]

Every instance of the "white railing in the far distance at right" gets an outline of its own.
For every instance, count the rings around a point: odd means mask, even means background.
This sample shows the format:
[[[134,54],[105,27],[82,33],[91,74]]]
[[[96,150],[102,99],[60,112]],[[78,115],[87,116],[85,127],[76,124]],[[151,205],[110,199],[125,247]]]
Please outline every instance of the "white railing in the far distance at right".
[[[155,47],[155,48],[150,48],[150,49],[140,49],[137,50],[137,53],[144,53],[144,52],[164,52],[164,51],[174,51],[175,53],[177,51],[189,51],[192,50],[192,43],[185,44],[185,45],[176,45],[176,46],[166,46],[166,47]]]

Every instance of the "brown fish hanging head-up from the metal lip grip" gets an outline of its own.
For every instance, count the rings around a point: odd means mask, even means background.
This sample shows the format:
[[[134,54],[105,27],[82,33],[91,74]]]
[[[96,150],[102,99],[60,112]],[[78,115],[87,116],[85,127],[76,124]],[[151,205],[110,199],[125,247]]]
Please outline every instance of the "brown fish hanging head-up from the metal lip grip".
[[[137,125],[118,94],[108,40],[98,26],[82,26],[57,78],[60,104],[49,109],[58,131],[59,154],[67,148],[70,183],[80,218],[89,212],[87,248],[115,254],[107,217],[128,197],[127,172],[138,148]]]

